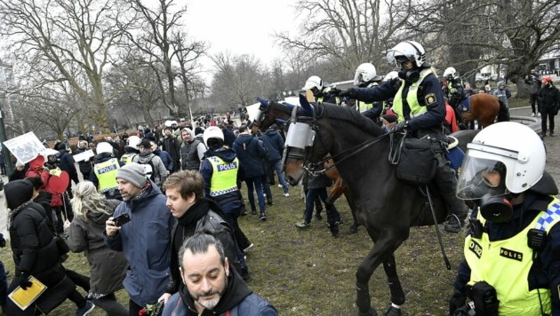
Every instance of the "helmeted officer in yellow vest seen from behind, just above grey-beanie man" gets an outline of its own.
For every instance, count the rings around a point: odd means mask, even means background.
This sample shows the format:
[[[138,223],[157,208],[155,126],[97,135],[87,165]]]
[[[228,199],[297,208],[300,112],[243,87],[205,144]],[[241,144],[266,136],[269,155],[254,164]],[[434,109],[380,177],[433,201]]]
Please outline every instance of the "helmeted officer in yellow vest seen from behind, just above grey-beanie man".
[[[90,181],[94,183],[99,193],[105,194],[107,199],[122,200],[123,197],[118,192],[116,175],[118,169],[125,164],[116,159],[110,143],[98,143],[95,151],[97,156],[90,173]]]

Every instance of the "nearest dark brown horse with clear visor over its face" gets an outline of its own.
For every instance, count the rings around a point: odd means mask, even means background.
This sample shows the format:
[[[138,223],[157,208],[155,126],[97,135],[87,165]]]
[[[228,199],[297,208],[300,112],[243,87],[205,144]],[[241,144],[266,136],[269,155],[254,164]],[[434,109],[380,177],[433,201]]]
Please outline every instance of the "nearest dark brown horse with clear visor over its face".
[[[442,223],[446,216],[444,205],[432,194],[434,214],[430,213],[426,196],[419,187],[395,177],[395,166],[388,161],[391,151],[389,134],[377,124],[350,108],[325,103],[315,108],[302,103],[302,107],[297,120],[309,124],[314,134],[302,135],[309,138],[303,143],[311,143],[304,155],[290,155],[293,148],[288,147],[284,166],[287,178],[290,182],[297,181],[304,170],[321,168],[318,162],[323,161],[327,153],[332,155],[351,191],[355,203],[353,212],[374,242],[356,272],[358,315],[377,315],[371,306],[368,282],[380,264],[383,264],[388,278],[391,303],[400,306],[405,303],[405,293],[397,275],[394,252],[408,238],[410,227]],[[293,127],[293,130],[300,128]],[[472,131],[472,137],[476,133]],[[395,141],[402,137],[393,135]],[[463,141],[468,139],[463,138]],[[389,308],[388,314],[400,315],[400,309]]]

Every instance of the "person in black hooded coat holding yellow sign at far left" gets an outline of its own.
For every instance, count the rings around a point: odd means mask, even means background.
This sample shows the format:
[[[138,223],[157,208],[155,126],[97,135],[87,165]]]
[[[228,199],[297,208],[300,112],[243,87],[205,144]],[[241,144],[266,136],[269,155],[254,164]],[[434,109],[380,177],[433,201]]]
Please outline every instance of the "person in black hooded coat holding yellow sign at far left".
[[[76,285],[66,277],[59,248],[47,224],[47,214],[43,207],[31,200],[33,184],[29,180],[15,180],[5,185],[4,191],[9,209],[8,230],[15,264],[15,277],[8,286],[8,293],[18,286],[24,290],[32,287],[29,281],[31,275],[47,286],[41,297],[25,310],[8,300],[6,314],[36,315],[37,306],[48,303],[49,309],[52,310],[66,297],[78,306],[77,316],[89,314],[95,306],[76,291]],[[57,294],[64,297],[55,303],[48,302],[49,298],[52,299],[52,296]],[[45,311],[44,306],[41,310],[43,313],[50,311]]]

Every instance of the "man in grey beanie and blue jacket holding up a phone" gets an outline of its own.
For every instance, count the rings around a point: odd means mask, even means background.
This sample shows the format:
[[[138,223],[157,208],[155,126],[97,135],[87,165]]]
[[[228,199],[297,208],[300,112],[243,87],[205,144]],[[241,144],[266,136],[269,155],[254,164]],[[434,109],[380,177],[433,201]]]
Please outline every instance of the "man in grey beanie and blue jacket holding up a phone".
[[[104,240],[112,250],[122,251],[130,265],[123,285],[130,297],[129,313],[138,315],[165,292],[174,217],[166,206],[167,198],[146,178],[141,164],[119,168],[116,179],[123,203],[105,222]],[[130,222],[117,227],[114,218],[125,213]]]

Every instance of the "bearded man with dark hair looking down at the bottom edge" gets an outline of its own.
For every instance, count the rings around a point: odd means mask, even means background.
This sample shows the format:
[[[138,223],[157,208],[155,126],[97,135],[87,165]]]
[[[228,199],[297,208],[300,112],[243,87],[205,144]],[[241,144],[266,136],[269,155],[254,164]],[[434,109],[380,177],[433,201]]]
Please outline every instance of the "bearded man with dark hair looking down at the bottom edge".
[[[186,287],[167,301],[162,315],[278,315],[271,303],[248,289],[221,242],[208,232],[188,238],[179,260]]]

